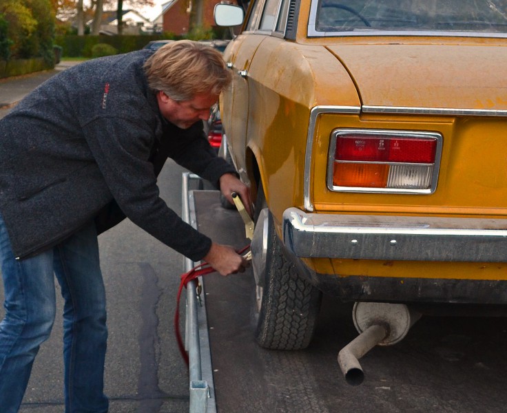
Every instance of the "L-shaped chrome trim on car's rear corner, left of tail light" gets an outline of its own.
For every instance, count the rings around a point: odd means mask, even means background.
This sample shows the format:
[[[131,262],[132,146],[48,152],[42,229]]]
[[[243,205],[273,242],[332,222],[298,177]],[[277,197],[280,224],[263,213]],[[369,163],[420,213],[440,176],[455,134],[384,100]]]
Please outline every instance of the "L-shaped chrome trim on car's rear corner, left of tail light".
[[[303,204],[304,209],[313,211],[313,203],[310,199],[311,186],[311,153],[313,148],[313,135],[315,132],[315,124],[320,114],[360,114],[359,106],[315,106],[310,111],[310,120],[308,125],[307,149],[304,155],[304,178],[303,178]]]

